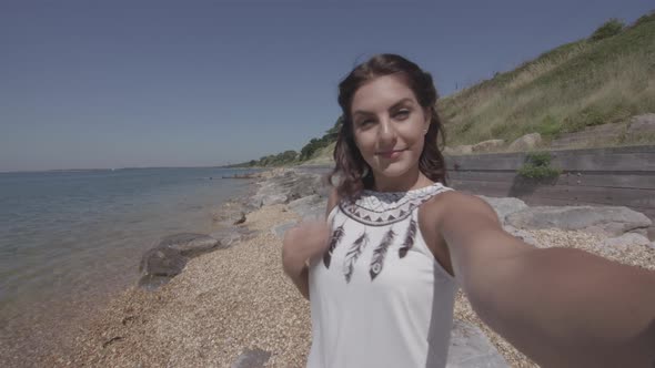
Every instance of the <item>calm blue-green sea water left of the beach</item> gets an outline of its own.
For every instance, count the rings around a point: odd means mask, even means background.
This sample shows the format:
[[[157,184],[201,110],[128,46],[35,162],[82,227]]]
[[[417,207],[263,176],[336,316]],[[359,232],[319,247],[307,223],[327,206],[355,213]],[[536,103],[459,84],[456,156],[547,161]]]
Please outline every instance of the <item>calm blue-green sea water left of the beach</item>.
[[[160,237],[209,233],[226,168],[0,173],[0,331],[135,283]],[[21,318],[22,317],[22,318]]]

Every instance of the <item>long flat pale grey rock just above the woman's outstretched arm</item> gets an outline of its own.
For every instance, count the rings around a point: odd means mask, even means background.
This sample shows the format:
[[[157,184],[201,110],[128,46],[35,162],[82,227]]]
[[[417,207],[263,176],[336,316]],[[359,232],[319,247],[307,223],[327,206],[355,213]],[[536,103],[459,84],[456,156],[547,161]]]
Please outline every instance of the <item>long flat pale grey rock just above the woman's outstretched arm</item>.
[[[582,229],[618,236],[651,226],[646,215],[623,206],[540,206],[508,215],[506,223],[516,228]]]

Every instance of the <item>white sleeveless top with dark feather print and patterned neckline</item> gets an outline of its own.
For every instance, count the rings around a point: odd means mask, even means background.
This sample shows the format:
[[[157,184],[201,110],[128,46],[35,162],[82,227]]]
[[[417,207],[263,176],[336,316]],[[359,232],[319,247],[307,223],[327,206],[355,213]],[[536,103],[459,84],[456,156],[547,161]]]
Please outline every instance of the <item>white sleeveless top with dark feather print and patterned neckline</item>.
[[[310,267],[310,368],[444,367],[456,280],[419,227],[419,206],[451,191],[363,191],[330,213],[330,246]]]

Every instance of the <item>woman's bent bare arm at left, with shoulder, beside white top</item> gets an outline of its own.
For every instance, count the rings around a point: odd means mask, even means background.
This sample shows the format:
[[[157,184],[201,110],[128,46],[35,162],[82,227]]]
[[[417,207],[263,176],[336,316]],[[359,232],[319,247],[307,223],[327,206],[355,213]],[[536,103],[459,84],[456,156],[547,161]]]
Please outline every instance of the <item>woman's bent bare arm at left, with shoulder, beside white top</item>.
[[[332,208],[336,206],[337,201],[336,193],[333,191],[328,198],[325,217],[328,217]],[[284,234],[282,247],[282,266],[284,273],[291,278],[300,294],[302,294],[308,300],[310,299],[309,260],[313,252],[303,247],[303,243],[308,242],[308,239],[315,241],[316,238],[322,237],[326,241],[328,234],[321,235],[324,232],[326,232],[325,223],[310,223],[291,228]]]

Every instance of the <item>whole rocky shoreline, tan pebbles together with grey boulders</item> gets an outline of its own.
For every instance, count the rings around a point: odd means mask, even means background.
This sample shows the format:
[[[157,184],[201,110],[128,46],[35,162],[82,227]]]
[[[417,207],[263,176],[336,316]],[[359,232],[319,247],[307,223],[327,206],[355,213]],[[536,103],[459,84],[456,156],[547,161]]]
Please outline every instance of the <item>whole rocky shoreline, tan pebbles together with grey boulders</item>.
[[[634,211],[485,200],[506,231],[537,247],[576,247],[655,269],[655,244],[643,235],[649,219]],[[282,235],[301,219],[322,217],[325,201],[319,174],[262,174],[256,190],[216,211],[212,234],[178,234],[149,251],[141,286],[113,299],[79,330],[72,349],[48,356],[42,365],[304,366],[311,344],[309,303],[282,272]],[[182,257],[170,262],[174,272],[158,270],[151,262],[153,255],[167,259],[167,253]],[[536,367],[486,327],[460,292],[449,367],[482,361],[485,367]]]

